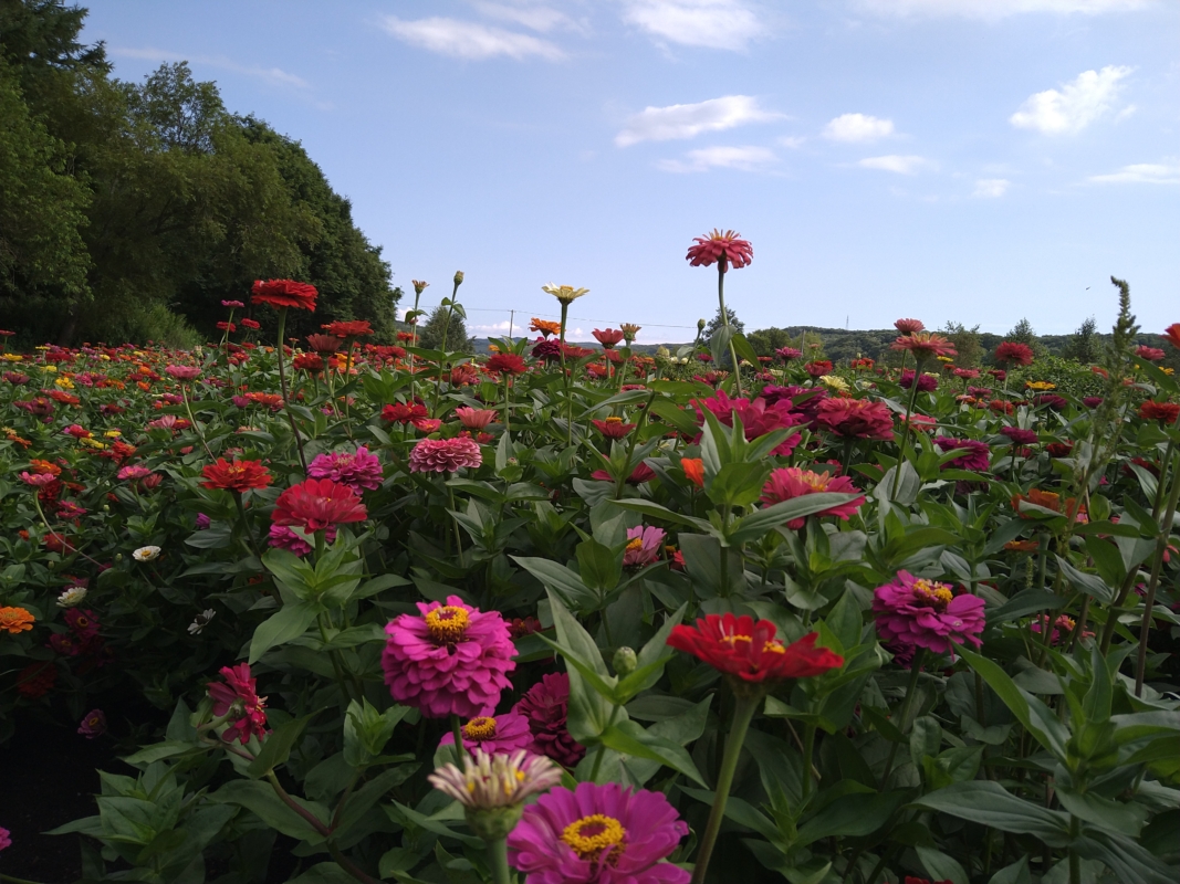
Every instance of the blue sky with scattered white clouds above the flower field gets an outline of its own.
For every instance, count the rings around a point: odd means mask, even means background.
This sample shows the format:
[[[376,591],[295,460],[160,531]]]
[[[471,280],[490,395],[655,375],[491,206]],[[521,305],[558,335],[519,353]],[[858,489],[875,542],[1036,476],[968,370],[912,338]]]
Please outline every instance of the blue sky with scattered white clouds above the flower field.
[[[747,330],[1180,321],[1175,0],[93,0],[116,74],[188,60],[302,141],[394,281],[477,334],[690,338],[715,226]],[[582,334],[578,334],[581,330]]]

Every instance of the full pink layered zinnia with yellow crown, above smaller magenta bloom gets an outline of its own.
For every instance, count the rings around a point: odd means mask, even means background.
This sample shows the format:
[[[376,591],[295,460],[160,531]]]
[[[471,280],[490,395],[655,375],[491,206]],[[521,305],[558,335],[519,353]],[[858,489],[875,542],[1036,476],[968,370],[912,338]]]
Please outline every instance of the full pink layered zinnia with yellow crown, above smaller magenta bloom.
[[[481,612],[458,595],[446,605],[418,602],[418,609],[421,616],[400,614],[385,627],[381,668],[393,699],[427,718],[470,719],[494,710],[516,668],[500,613]]]

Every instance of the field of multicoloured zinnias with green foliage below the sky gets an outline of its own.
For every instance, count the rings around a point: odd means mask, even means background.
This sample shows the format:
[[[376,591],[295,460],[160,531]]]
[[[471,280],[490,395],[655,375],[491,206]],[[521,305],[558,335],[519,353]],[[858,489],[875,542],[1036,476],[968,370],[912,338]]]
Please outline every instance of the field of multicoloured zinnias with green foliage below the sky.
[[[726,316],[750,245],[688,258]],[[287,339],[291,281],[6,350],[0,740],[117,747],[85,880],[1174,882],[1180,388],[1114,282],[1053,378],[576,347],[565,285],[486,358]]]

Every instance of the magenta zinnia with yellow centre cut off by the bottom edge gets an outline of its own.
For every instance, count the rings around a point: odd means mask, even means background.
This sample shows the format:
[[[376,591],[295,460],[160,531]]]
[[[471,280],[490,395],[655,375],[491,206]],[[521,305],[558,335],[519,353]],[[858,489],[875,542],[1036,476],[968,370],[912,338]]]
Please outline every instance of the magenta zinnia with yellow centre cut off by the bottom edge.
[[[661,860],[686,834],[661,792],[579,783],[525,807],[509,836],[509,863],[529,884],[684,884],[689,873]]]

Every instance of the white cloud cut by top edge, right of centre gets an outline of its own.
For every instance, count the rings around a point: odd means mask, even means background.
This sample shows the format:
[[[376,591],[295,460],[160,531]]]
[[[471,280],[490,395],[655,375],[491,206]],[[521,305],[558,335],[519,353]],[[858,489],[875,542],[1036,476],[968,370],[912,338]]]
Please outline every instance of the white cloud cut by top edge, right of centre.
[[[624,0],[623,20],[661,40],[714,50],[743,50],[766,34],[745,0]]]

